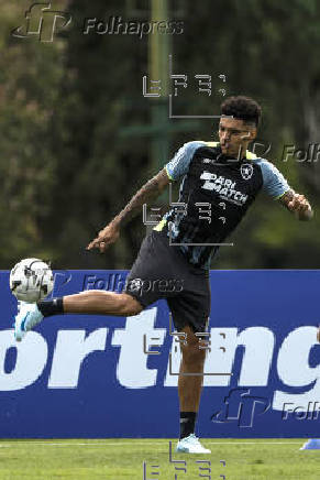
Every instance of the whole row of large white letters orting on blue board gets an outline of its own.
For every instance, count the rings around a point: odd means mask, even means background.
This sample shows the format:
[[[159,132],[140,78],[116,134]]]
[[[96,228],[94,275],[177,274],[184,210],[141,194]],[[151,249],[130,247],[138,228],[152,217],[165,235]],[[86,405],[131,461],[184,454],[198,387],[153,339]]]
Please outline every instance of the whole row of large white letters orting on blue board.
[[[128,389],[154,386],[158,368],[147,368],[150,356],[143,350],[157,346],[158,359],[163,366],[163,351],[167,328],[155,328],[157,308],[143,310],[135,317],[126,319],[125,328],[114,329],[112,345],[120,347],[117,378]],[[95,351],[104,351],[108,328],[98,328],[90,335],[85,329],[59,330],[53,352],[48,389],[76,389],[84,368],[84,360]],[[205,373],[232,373],[236,350],[244,347],[240,368],[239,386],[267,386],[274,353],[275,335],[266,327],[249,327],[239,332],[236,327],[211,328],[211,352],[207,352]],[[145,336],[145,346],[144,346]],[[317,328],[302,326],[294,329],[284,339],[277,356],[277,372],[283,389],[276,390],[273,408],[280,412],[284,405],[288,411],[296,407],[308,410],[310,403],[320,401],[320,363],[310,367],[310,352],[317,347]],[[173,337],[172,337],[173,338]],[[173,338],[175,340],[175,337]],[[12,370],[5,371],[8,352],[16,350]],[[180,366],[179,343],[172,343],[172,372],[178,373]],[[166,351],[165,351],[166,354]],[[167,356],[167,354],[166,354]],[[22,342],[13,339],[12,329],[0,331],[0,391],[25,389],[35,383],[42,375],[48,358],[45,339],[35,331],[30,331]],[[103,366],[102,366],[103,368]],[[276,367],[275,367],[276,368]],[[273,370],[273,375],[276,375]],[[236,379],[233,379],[233,381]],[[164,386],[177,386],[178,375],[169,373],[169,357]],[[229,386],[230,377],[205,374],[205,386]],[[291,393],[299,388],[304,393]],[[272,400],[272,399],[271,399]]]

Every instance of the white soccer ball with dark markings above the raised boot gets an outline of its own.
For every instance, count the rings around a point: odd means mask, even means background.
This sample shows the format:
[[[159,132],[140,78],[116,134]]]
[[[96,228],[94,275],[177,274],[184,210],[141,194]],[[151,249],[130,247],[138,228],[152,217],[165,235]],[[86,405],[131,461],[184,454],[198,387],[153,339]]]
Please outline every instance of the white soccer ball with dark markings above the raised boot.
[[[46,297],[54,286],[51,268],[40,259],[24,259],[10,272],[10,290],[22,302],[33,303]]]

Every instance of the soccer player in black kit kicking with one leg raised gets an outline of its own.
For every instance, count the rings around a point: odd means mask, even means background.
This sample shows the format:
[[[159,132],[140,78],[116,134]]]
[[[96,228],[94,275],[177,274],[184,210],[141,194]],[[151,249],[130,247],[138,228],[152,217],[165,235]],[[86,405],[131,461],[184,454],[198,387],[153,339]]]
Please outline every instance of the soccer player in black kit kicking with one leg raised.
[[[126,207],[87,247],[106,249],[143,204],[155,199],[169,182],[181,179],[179,203],[147,234],[129,273],[122,293],[88,291],[37,304],[23,304],[15,317],[19,341],[43,317],[62,314],[137,315],[166,298],[181,341],[178,379],[180,438],[177,451],[210,454],[195,436],[203,379],[206,349],[200,336],[210,316],[209,269],[211,258],[234,230],[261,190],[279,200],[299,220],[312,217],[304,195],[289,187],[271,162],[247,151],[256,138],[260,105],[249,97],[230,97],[221,105],[220,142],[192,141],[150,179]],[[147,285],[147,288],[144,287]],[[152,287],[150,287],[152,285]],[[202,348],[200,348],[202,347]]]

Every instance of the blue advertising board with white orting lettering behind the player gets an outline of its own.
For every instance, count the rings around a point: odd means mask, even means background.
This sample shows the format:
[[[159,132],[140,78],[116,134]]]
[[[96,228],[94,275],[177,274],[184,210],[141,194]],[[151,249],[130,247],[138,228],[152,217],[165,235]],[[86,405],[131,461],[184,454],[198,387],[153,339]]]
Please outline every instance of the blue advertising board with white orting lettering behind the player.
[[[56,271],[52,295],[121,292],[126,273]],[[8,276],[0,273],[1,438],[178,436],[180,349],[165,301],[128,318],[49,317],[16,343]],[[211,271],[210,281],[196,434],[319,437],[320,271]]]

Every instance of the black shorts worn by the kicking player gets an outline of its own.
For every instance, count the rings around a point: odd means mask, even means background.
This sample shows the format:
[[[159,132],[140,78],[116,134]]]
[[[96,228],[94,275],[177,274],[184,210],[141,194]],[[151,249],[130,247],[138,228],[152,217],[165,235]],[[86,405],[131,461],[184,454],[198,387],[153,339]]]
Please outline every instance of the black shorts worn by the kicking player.
[[[140,248],[123,292],[145,308],[166,298],[174,326],[207,331],[211,307],[209,271],[191,265],[163,231],[152,230]]]

